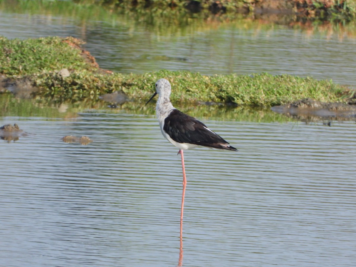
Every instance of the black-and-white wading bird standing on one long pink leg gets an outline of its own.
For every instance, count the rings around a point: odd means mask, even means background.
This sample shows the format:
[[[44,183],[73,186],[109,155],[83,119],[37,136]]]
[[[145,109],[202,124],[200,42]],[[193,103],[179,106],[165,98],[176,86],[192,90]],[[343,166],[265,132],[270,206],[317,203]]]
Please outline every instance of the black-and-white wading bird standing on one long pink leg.
[[[180,211],[180,240],[182,242],[184,195],[185,187],[187,185],[183,151],[199,146],[232,151],[237,151],[237,149],[230,146],[221,136],[211,131],[205,124],[203,124],[203,122],[174,108],[169,100],[169,97],[171,96],[171,84],[168,80],[163,78],[157,80],[156,92],[146,102],[146,105],[157,94],[156,115],[162,135],[174,146],[179,148],[177,155],[180,154],[182,160],[183,193]]]

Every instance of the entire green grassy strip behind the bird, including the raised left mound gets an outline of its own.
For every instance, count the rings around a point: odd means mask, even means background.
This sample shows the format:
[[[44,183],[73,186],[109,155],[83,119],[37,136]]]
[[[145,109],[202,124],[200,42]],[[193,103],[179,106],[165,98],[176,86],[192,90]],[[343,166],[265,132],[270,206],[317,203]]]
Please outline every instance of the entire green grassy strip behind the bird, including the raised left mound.
[[[73,38],[7,40],[0,37],[0,73],[15,79],[30,79],[40,88],[35,98],[43,103],[84,102],[92,106],[98,103],[100,95],[120,90],[143,105],[154,92],[159,78],[171,82],[174,103],[213,101],[261,107],[302,98],[342,101],[343,92],[349,90],[332,81],[268,73],[204,76],[161,70],[144,74],[101,74],[97,66],[83,59],[78,44]],[[70,70],[69,77],[57,73],[62,68]]]

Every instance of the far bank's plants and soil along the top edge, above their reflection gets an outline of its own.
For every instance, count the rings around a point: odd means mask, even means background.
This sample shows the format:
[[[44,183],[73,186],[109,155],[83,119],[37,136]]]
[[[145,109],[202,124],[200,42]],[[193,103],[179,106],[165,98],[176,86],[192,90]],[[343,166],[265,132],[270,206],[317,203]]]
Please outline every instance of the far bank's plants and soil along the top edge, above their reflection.
[[[75,0],[80,4],[93,4],[92,0]],[[229,13],[253,13],[255,10],[282,10],[321,20],[351,20],[356,17],[354,0],[100,0],[95,4],[109,6],[111,9],[122,9],[124,12],[159,13],[172,15],[190,12],[193,14],[223,15]]]

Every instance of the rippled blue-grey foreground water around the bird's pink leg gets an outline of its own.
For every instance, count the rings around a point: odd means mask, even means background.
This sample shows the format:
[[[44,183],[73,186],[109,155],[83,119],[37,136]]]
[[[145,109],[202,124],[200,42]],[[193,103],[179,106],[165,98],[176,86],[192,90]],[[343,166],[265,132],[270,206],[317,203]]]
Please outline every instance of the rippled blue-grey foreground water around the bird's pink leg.
[[[3,266],[176,266],[182,174],[154,116],[1,117]],[[354,266],[355,122],[204,122],[185,153],[183,266]],[[87,135],[87,146],[64,143]]]

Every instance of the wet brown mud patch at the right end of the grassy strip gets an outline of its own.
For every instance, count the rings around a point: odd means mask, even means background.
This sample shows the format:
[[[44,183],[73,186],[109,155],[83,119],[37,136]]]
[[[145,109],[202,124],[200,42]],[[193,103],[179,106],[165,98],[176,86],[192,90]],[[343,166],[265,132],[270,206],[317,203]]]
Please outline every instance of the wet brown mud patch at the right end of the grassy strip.
[[[323,103],[301,99],[287,105],[273,106],[274,112],[302,121],[356,120],[356,106],[344,103]],[[330,126],[330,125],[329,125]]]

